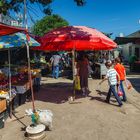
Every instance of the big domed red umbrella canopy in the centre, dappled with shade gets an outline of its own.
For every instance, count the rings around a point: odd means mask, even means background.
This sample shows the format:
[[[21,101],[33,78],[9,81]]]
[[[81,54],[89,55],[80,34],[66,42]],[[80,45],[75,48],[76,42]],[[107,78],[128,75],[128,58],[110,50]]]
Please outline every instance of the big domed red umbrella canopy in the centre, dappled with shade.
[[[35,50],[111,50],[117,44],[103,33],[85,26],[66,26],[52,30],[40,38],[41,47]]]

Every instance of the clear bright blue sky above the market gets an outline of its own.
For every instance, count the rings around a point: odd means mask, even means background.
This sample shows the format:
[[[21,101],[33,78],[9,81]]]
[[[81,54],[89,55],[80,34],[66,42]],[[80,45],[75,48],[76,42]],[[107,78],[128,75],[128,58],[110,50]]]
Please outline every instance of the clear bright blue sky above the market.
[[[77,7],[74,0],[54,0],[51,7],[54,14],[59,14],[70,25],[94,27],[112,32],[114,37],[140,30],[140,0],[87,0],[83,7]],[[40,19],[42,16],[38,10],[38,17],[33,17]]]

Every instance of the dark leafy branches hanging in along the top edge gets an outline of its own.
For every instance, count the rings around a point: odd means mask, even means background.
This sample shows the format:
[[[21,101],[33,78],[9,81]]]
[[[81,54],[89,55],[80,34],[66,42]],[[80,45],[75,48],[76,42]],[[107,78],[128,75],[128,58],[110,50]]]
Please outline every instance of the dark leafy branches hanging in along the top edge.
[[[43,12],[45,14],[50,15],[52,13],[52,9],[50,4],[54,0],[26,0],[27,5],[38,4],[43,6]],[[83,6],[85,4],[85,0],[74,0],[78,6]],[[0,13],[7,14],[8,11],[20,12],[22,6],[24,4],[24,0],[0,0]],[[63,4],[63,3],[62,3]]]

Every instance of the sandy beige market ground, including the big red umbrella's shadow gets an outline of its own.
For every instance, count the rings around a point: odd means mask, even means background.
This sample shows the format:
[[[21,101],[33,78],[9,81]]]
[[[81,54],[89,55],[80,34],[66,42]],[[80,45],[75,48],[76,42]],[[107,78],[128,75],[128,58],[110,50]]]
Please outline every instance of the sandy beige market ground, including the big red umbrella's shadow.
[[[99,80],[89,79],[90,96],[79,95],[74,104],[67,101],[72,93],[72,81],[43,78],[42,83],[40,92],[35,93],[36,108],[49,109],[54,114],[53,130],[46,131],[45,140],[140,140],[138,87],[126,89],[128,102],[119,108],[113,98],[111,104],[104,102],[107,82],[98,87]],[[0,140],[25,139],[24,127],[31,123],[31,118],[23,116],[29,108],[30,102],[16,109],[19,119],[7,120],[5,128],[0,130]]]

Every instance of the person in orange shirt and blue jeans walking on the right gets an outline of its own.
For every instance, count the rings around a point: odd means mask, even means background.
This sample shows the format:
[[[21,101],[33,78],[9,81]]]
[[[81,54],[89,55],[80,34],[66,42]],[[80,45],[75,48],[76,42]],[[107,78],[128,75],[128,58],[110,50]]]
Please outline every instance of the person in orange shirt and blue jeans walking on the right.
[[[123,87],[123,82],[126,80],[126,70],[125,67],[121,64],[121,60],[119,57],[115,58],[115,66],[114,69],[117,71],[120,77],[120,88],[123,92],[123,101],[126,102],[126,94]]]

